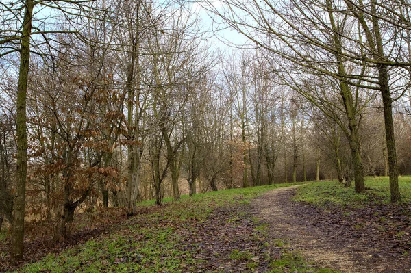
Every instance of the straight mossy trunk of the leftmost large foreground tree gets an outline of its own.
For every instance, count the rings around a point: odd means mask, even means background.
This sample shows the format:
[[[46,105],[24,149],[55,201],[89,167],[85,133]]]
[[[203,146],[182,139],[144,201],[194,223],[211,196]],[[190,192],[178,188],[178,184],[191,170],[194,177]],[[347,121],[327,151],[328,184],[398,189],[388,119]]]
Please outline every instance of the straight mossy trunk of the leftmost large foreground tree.
[[[17,83],[17,168],[16,168],[16,198],[14,199],[14,215],[12,228],[12,244],[10,257],[12,265],[23,261],[24,251],[24,216],[25,216],[25,183],[27,177],[27,118],[26,96],[30,62],[30,36],[32,34],[32,16],[34,1],[25,2],[23,31],[20,49],[20,69]]]

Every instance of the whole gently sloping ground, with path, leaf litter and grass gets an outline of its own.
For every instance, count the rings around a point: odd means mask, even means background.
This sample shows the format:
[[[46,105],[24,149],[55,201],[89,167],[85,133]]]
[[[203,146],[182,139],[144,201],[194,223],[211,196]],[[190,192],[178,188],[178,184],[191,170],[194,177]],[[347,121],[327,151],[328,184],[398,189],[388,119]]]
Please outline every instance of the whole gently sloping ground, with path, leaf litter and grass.
[[[404,202],[390,205],[386,180],[366,180],[366,194],[327,181],[146,202],[145,213],[14,270],[407,272],[411,183],[401,179]]]

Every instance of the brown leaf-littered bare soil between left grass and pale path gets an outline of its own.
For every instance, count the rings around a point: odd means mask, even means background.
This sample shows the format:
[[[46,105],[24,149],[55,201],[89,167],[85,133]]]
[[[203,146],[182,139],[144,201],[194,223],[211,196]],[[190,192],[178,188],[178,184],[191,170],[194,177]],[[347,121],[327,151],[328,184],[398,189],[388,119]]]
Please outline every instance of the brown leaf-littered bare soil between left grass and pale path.
[[[269,272],[270,261],[278,259],[280,248],[265,244],[265,234],[256,231],[251,206],[220,207],[208,220],[181,229],[182,250],[203,261],[184,272]]]

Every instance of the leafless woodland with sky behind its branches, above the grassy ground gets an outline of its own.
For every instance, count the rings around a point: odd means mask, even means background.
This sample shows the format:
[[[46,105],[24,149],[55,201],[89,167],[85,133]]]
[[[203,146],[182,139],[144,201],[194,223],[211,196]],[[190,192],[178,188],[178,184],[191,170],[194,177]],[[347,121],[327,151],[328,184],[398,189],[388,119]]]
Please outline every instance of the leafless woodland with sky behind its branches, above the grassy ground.
[[[6,0],[0,21],[12,265],[148,200],[388,177],[410,202],[409,0]]]

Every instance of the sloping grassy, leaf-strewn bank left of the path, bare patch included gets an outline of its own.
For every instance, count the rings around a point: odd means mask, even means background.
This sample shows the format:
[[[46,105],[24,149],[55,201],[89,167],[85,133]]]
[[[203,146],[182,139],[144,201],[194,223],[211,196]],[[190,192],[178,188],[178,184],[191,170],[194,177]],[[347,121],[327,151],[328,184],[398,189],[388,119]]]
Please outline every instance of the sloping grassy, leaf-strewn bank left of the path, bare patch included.
[[[18,272],[332,272],[269,237],[254,216],[252,198],[285,186],[184,196]]]

